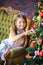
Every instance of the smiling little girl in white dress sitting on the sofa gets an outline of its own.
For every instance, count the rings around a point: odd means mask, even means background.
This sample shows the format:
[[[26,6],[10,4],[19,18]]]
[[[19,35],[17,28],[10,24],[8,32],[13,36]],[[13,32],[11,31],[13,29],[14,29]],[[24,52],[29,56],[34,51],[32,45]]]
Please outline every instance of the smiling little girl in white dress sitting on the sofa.
[[[0,44],[0,57],[5,61],[4,55],[7,53],[9,48],[23,46],[26,47],[25,39],[29,32],[25,28],[27,26],[27,19],[24,13],[17,13],[13,18],[13,26],[10,27],[9,38],[2,40]]]

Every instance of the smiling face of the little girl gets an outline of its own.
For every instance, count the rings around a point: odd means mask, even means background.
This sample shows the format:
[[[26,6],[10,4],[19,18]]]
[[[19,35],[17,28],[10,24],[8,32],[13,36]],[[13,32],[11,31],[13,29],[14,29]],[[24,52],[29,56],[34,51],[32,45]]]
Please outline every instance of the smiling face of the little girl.
[[[15,25],[17,29],[23,30],[26,26],[26,22],[22,17],[20,17],[20,18],[17,18]]]

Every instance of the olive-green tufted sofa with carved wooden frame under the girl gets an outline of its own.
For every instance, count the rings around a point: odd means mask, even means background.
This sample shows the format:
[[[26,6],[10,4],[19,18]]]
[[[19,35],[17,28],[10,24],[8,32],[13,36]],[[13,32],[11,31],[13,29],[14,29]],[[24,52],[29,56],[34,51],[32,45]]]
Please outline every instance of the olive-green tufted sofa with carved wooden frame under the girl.
[[[8,38],[10,27],[13,25],[13,16],[21,12],[15,10],[11,6],[9,7],[0,7],[0,43],[3,39]],[[31,28],[31,20],[27,17],[27,29]],[[13,55],[14,52],[14,55]],[[23,47],[15,48],[15,51],[11,51],[7,56],[8,58],[4,62],[4,65],[23,65],[25,60],[23,57],[26,55],[26,50]]]

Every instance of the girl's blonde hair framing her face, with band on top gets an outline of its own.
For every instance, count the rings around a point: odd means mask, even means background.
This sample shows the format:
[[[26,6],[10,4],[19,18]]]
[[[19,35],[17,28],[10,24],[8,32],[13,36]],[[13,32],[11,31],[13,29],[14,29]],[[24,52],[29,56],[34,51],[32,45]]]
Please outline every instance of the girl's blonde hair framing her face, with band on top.
[[[13,27],[16,29],[16,25],[15,25],[15,22],[18,18],[22,17],[24,20],[25,20],[25,23],[26,23],[26,26],[27,26],[27,19],[26,19],[26,15],[23,13],[23,12],[19,12],[19,13],[16,13],[13,17]],[[26,28],[25,26],[25,28]]]

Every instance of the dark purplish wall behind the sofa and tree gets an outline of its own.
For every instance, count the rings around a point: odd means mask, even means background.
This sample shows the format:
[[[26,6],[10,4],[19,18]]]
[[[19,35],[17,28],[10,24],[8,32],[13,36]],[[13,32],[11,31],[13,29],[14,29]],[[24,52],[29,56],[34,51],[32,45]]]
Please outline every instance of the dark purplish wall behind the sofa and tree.
[[[32,19],[32,13],[37,11],[35,5],[37,5],[38,0],[0,0],[0,7],[12,6],[14,9],[23,11]]]

